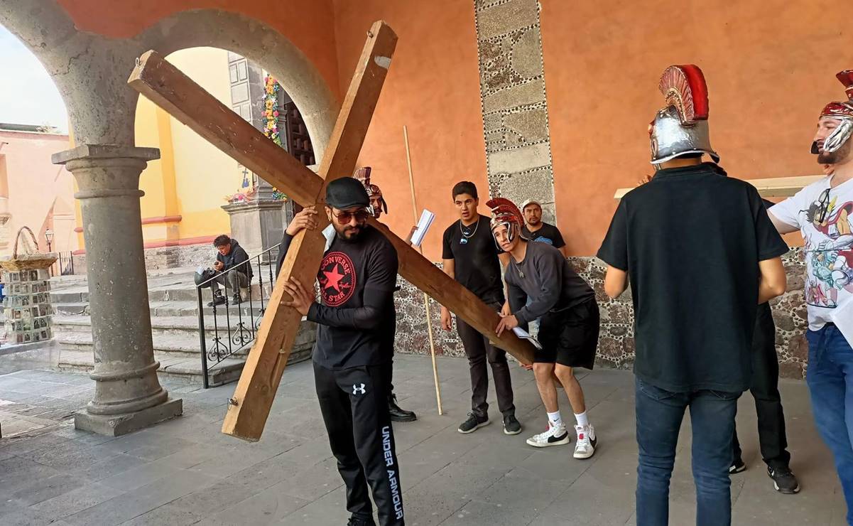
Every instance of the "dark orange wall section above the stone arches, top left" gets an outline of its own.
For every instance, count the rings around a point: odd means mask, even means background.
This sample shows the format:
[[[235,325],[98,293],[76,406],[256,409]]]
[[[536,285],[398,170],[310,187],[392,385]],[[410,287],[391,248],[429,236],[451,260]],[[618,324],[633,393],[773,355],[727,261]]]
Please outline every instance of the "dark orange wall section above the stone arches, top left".
[[[189,9],[222,9],[262,20],[295,44],[334,92],[338,65],[334,50],[332,1],[310,0],[58,0],[83,31],[130,38],[155,22]],[[363,33],[362,33],[363,34]]]

